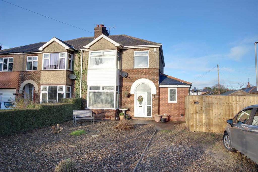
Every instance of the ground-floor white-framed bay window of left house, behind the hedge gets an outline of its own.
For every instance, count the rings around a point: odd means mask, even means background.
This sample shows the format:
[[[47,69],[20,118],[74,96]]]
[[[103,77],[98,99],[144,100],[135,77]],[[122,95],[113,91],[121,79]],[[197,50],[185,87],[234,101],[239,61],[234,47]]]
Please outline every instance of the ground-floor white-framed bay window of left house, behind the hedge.
[[[40,103],[57,103],[61,98],[71,98],[71,86],[42,85]]]

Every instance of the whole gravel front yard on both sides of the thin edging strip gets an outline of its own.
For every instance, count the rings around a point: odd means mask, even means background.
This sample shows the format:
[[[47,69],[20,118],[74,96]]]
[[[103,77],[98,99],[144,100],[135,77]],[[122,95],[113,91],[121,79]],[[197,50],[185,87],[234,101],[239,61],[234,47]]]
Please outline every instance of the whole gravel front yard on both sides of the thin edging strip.
[[[1,137],[0,171],[53,171],[64,158],[76,159],[79,171],[132,171],[155,130],[152,125],[140,124],[131,130],[117,130],[116,121],[61,125],[64,129],[59,134],[46,127]],[[85,129],[87,134],[69,135],[77,129]],[[137,171],[258,170],[240,153],[226,151],[221,138],[222,134],[192,133],[184,124],[175,125],[173,131],[158,131]]]

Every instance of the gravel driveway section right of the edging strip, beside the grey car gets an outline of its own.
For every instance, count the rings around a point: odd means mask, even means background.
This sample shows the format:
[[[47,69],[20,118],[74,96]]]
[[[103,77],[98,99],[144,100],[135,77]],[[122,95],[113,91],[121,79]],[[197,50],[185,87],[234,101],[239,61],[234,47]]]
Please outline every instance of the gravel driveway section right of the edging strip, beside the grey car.
[[[222,136],[175,124],[173,131],[156,133],[137,171],[258,171],[244,155],[227,151]]]

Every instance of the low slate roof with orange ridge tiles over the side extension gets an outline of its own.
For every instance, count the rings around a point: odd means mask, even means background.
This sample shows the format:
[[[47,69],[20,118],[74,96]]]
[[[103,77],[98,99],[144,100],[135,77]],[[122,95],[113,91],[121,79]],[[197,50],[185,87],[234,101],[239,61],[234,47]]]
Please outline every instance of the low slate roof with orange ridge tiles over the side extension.
[[[160,73],[159,85],[192,85],[192,83]]]

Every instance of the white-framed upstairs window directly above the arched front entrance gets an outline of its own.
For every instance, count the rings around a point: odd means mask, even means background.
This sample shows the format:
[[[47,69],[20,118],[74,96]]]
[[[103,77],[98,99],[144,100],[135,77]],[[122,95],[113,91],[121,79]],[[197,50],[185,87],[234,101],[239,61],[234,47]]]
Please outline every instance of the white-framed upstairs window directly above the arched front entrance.
[[[134,51],[134,68],[149,67],[149,51]]]

